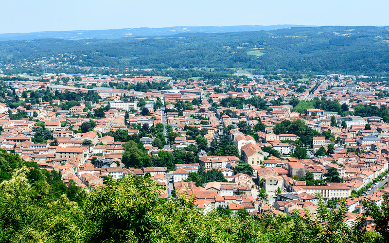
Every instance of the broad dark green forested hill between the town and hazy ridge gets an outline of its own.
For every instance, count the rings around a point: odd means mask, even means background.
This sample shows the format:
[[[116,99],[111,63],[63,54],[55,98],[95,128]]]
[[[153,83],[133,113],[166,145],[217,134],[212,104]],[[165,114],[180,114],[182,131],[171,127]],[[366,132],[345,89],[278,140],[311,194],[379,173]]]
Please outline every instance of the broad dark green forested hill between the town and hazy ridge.
[[[383,75],[389,70],[389,31],[388,27],[323,26],[116,40],[0,42],[1,64],[26,60],[116,69],[246,68]]]

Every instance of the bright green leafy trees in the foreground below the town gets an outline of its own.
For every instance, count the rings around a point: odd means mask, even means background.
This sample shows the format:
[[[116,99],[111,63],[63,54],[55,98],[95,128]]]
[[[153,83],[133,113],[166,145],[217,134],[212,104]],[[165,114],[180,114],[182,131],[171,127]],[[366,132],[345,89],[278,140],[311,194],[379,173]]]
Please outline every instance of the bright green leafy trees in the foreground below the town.
[[[106,186],[80,190],[64,185],[60,174],[0,150],[0,242],[137,242],[137,243],[384,243],[388,231],[388,197],[382,208],[364,203],[377,231],[362,219],[346,224],[342,202],[329,210],[319,200],[316,218],[308,212],[250,216],[216,208],[194,210],[195,197],[160,198],[163,186],[149,177],[129,174]]]

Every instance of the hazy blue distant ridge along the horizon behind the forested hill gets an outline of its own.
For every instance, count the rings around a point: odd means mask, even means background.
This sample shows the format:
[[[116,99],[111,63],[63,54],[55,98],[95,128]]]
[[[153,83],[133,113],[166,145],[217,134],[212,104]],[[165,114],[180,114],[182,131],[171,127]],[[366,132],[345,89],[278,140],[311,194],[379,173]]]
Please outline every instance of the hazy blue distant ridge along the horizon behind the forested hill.
[[[109,30],[75,30],[75,31],[44,31],[32,33],[0,34],[0,41],[6,40],[34,40],[58,38],[67,40],[77,39],[120,39],[125,37],[175,35],[181,33],[229,33],[247,31],[271,31],[294,27],[318,27],[308,25],[236,25],[236,26],[176,26],[165,28],[124,28]]]

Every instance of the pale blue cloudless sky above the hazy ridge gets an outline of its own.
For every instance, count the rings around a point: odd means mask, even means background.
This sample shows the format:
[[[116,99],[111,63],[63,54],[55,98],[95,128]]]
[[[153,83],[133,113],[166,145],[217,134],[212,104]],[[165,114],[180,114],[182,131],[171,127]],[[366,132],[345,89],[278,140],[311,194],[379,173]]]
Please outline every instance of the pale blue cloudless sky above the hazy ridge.
[[[389,25],[389,0],[0,0],[0,34],[139,27]]]

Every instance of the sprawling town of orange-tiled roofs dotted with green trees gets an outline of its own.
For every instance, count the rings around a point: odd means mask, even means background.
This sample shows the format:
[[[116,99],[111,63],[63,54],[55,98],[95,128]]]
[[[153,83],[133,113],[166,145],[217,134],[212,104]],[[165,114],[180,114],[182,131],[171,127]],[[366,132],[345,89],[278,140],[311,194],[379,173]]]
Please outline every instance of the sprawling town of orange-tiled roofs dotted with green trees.
[[[0,148],[86,191],[136,174],[204,213],[272,216],[346,199],[350,225],[389,194],[389,88],[371,77],[1,74],[0,86]]]

